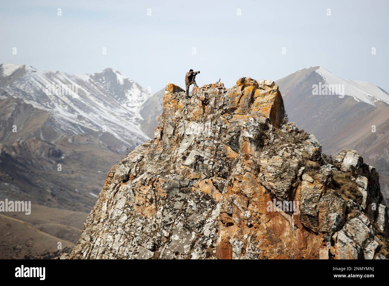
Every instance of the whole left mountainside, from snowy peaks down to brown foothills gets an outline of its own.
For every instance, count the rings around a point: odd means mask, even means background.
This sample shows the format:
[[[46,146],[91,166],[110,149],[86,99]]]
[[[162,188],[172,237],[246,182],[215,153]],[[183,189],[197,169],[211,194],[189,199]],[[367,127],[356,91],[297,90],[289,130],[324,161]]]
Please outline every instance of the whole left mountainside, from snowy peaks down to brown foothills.
[[[0,65],[0,200],[34,206],[18,220],[0,217],[0,258],[50,258],[58,241],[73,246],[112,164],[149,139],[140,109],[150,96],[111,68],[70,75]],[[56,219],[64,212],[76,221]]]

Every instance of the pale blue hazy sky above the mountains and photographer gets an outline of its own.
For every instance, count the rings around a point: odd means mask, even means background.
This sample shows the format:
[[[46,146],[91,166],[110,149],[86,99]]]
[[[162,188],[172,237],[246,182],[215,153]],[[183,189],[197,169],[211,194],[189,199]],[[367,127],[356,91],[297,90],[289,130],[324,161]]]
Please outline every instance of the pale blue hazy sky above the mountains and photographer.
[[[322,65],[389,90],[384,0],[0,2],[0,62],[68,73],[112,67],[152,92],[167,81],[184,86],[189,68],[201,71],[199,85],[221,77],[229,87]]]

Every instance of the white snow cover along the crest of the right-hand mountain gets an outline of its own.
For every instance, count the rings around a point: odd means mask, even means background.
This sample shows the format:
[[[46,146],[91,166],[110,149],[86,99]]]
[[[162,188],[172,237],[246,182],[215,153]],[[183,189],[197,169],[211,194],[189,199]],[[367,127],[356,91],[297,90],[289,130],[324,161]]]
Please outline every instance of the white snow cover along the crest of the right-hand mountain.
[[[389,104],[389,93],[370,82],[352,81],[350,79],[341,79],[321,66],[316,66],[315,72],[320,74],[326,81],[327,86],[331,84],[344,85],[345,95],[352,96],[358,102],[366,102],[377,106],[380,101]]]

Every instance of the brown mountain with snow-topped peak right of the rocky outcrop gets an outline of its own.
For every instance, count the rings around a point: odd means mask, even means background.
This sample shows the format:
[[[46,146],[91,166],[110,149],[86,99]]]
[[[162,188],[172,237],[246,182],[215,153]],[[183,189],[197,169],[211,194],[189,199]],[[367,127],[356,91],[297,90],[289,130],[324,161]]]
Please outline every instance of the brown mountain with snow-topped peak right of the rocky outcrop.
[[[366,163],[377,168],[382,188],[389,183],[387,91],[369,82],[341,79],[320,66],[298,70],[279,79],[277,84],[289,120],[315,134],[324,153],[356,149]],[[344,97],[338,93],[313,94],[314,85],[319,84],[343,85]],[[376,132],[372,132],[373,126]]]

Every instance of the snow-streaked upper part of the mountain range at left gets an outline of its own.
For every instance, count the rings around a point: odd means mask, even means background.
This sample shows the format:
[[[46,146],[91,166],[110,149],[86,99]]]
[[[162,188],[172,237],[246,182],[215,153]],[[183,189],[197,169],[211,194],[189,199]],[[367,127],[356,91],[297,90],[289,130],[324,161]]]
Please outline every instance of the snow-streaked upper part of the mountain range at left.
[[[0,98],[10,96],[49,112],[54,128],[68,135],[107,132],[127,147],[149,139],[139,110],[150,95],[112,68],[70,75],[3,63]]]

